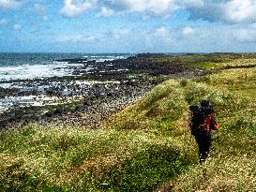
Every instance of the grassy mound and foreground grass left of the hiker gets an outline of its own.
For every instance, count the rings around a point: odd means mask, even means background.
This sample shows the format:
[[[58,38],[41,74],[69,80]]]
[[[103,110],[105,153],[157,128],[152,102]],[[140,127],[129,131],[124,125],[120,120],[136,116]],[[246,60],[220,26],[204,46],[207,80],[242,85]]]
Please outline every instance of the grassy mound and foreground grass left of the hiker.
[[[180,83],[168,81],[105,129],[30,125],[5,131],[0,188],[153,190],[196,162],[195,155],[185,155],[187,118]]]

